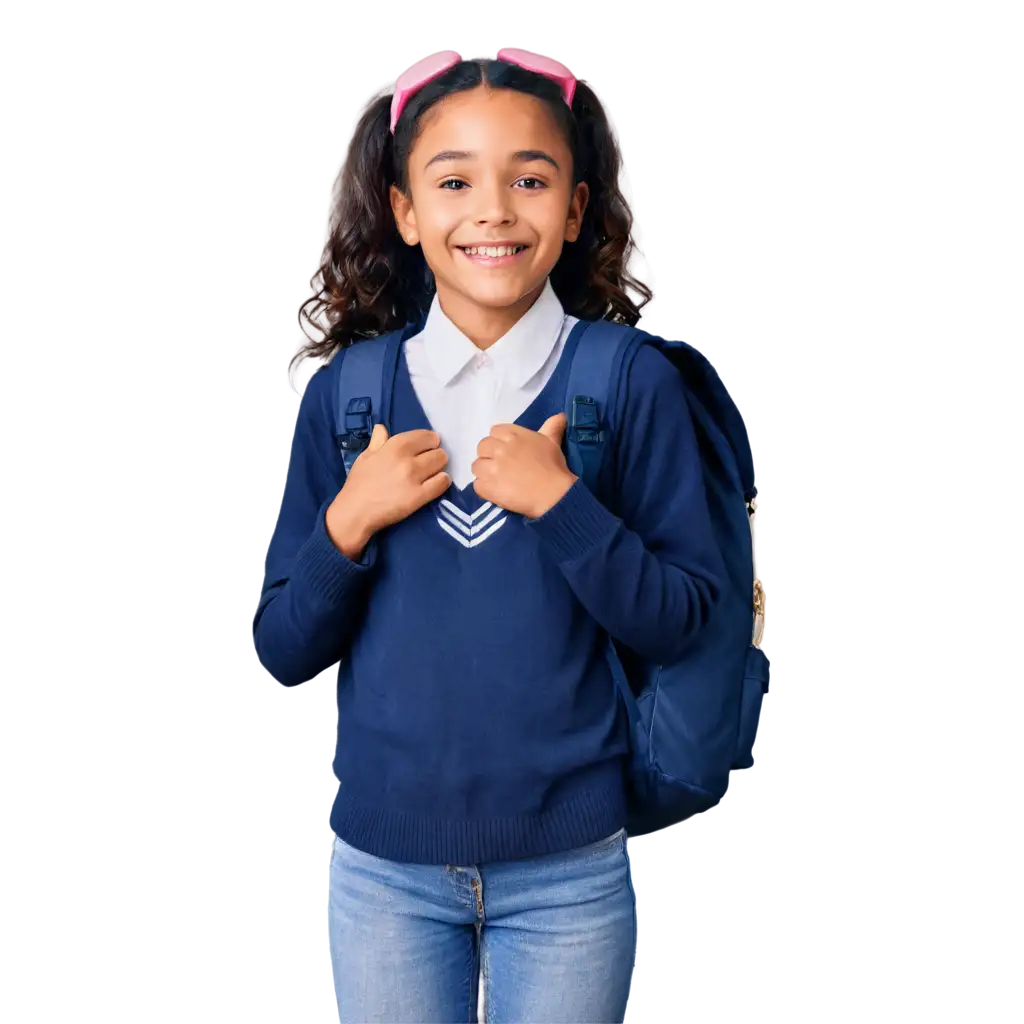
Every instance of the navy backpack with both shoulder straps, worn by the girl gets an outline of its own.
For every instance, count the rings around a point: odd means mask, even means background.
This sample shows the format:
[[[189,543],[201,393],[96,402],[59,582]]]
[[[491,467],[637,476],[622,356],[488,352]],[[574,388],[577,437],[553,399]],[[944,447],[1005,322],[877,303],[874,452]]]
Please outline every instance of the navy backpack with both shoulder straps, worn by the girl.
[[[374,424],[389,424],[395,368],[410,333],[395,331],[345,350],[335,432],[346,472],[369,443]],[[579,344],[584,336],[585,357]],[[607,321],[579,324],[567,342],[566,461],[597,497],[609,497],[606,454],[621,422],[630,362],[644,344],[656,346],[685,383],[728,579],[712,620],[681,662],[651,665],[608,641],[630,722],[631,834],[656,834],[682,813],[726,802],[753,765],[768,692],[753,458],[742,419],[708,359],[689,341]]]

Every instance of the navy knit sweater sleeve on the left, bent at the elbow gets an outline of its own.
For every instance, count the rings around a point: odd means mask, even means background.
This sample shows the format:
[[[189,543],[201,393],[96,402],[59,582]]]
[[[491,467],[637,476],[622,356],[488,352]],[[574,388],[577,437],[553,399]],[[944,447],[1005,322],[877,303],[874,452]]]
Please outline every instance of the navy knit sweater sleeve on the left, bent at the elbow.
[[[248,615],[250,652],[274,686],[330,685],[351,641],[376,546],[361,562],[331,541],[325,516],[345,468],[334,442],[330,368],[318,371],[292,420],[263,573]]]

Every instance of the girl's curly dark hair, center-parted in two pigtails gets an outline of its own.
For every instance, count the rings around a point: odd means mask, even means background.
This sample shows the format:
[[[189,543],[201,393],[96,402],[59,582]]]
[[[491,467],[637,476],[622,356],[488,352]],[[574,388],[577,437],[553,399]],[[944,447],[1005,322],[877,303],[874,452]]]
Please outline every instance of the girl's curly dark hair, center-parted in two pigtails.
[[[570,111],[550,79],[494,57],[471,56],[410,99],[393,136],[390,87],[356,112],[354,131],[332,172],[321,244],[296,301],[296,340],[286,360],[286,376],[293,381],[329,362],[338,349],[401,328],[429,309],[433,275],[420,247],[408,246],[398,233],[390,187],[408,193],[408,159],[422,115],[442,97],[483,83],[546,102],[568,141],[574,181],[588,185],[580,237],[564,244],[551,272],[562,306],[581,319],[631,325],[639,319],[646,292],[625,272],[629,223],[597,90],[579,81]]]

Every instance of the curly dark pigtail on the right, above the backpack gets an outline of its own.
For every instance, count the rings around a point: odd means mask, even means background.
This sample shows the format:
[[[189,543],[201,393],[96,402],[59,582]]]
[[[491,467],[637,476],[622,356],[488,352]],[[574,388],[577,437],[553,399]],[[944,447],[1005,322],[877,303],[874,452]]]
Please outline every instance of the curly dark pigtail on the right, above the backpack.
[[[572,100],[577,129],[577,178],[590,199],[580,238],[566,244],[551,274],[562,305],[582,319],[635,325],[647,299],[626,271],[631,236],[617,189],[618,160],[598,95],[579,81]]]

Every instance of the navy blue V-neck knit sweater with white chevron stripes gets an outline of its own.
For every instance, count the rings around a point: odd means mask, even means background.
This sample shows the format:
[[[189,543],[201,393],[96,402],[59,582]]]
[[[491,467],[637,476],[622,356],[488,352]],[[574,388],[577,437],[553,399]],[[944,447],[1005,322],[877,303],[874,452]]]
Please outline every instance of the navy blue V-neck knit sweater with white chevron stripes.
[[[677,660],[723,579],[677,371],[653,348],[637,354],[612,507],[577,482],[527,520],[453,486],[359,563],[325,527],[344,481],[343,357],[300,398],[249,615],[273,685],[336,683],[331,828],[379,857],[463,865],[610,835],[626,820],[628,735],[604,631]],[[536,430],[561,411],[567,370],[517,423]],[[402,358],[391,431],[417,428],[429,424]]]

